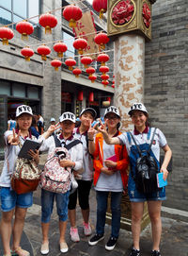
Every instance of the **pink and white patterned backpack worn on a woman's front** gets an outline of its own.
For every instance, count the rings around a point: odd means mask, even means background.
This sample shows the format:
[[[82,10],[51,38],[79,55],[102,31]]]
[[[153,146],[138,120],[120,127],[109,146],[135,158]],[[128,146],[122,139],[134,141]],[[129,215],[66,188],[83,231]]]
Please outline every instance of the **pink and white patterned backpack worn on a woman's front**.
[[[39,184],[45,190],[64,194],[71,188],[71,167],[61,167],[60,159],[71,159],[65,147],[55,147],[48,155]]]

